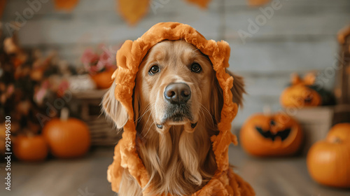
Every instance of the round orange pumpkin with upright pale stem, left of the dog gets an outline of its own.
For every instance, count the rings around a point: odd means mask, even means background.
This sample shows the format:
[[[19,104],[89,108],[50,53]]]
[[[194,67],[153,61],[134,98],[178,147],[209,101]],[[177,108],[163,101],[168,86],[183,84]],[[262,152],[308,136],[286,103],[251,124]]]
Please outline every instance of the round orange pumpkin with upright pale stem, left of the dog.
[[[68,110],[62,109],[61,118],[54,118],[43,127],[52,155],[57,158],[77,158],[90,148],[90,132],[83,121],[68,118]]]

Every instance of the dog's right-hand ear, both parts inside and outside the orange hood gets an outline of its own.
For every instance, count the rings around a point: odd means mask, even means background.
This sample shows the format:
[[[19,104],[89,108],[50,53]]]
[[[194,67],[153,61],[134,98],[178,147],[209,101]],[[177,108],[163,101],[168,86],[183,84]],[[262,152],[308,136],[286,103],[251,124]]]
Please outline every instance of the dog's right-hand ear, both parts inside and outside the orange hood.
[[[246,93],[244,90],[244,80],[241,76],[237,76],[231,71],[226,70],[226,73],[233,77],[233,87],[231,88],[232,101],[238,106],[242,106],[243,94]],[[211,103],[211,114],[213,115],[214,120],[216,120],[216,123],[218,123],[221,120],[221,110],[223,109],[223,90],[216,79],[215,73],[213,94],[214,97]]]

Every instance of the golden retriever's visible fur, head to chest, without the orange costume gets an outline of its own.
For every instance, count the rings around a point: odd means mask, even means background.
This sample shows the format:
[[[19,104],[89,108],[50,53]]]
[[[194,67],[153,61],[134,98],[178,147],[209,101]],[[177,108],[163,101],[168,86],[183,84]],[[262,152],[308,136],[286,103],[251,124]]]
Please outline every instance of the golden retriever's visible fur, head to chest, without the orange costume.
[[[242,102],[244,84],[234,77],[233,101]],[[102,105],[116,127],[127,112],[114,97],[113,84]],[[211,136],[218,134],[223,107],[221,87],[209,58],[186,41],[162,41],[142,60],[133,93],[137,151],[151,176],[146,195],[190,195],[216,171]],[[146,189],[146,188],[145,188]],[[124,171],[119,195],[142,195]]]

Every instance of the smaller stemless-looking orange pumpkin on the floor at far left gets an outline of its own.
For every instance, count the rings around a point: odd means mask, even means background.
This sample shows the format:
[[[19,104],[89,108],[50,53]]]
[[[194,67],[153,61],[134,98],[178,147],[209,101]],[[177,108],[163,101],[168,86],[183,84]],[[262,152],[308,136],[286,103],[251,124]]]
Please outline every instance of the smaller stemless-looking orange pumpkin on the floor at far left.
[[[48,156],[48,144],[42,135],[20,135],[13,144],[13,155],[22,161],[43,161]]]

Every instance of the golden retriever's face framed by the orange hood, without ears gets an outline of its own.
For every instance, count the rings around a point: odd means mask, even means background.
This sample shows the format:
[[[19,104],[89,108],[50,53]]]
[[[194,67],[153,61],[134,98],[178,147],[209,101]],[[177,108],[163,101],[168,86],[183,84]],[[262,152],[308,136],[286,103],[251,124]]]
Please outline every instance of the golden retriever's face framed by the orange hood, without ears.
[[[210,60],[186,41],[163,41],[148,52],[137,73],[139,106],[151,111],[159,132],[171,125],[191,131],[208,110],[214,70]]]

